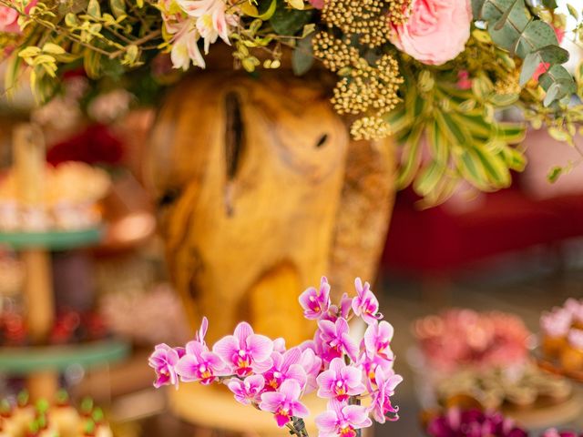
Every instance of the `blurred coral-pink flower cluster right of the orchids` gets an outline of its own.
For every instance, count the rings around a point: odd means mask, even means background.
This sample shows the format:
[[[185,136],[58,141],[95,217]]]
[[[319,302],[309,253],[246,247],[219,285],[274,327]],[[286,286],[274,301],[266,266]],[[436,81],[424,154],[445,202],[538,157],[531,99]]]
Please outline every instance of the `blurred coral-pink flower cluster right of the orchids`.
[[[452,373],[524,365],[530,332],[503,312],[446,310],[414,322],[414,336],[430,368]]]

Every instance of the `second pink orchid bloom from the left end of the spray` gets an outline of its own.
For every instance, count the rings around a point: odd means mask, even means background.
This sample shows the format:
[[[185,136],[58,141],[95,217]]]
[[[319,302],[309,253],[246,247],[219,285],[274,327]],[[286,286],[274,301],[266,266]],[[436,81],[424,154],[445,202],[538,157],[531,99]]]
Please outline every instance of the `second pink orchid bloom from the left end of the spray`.
[[[200,381],[201,384],[208,385],[217,381],[218,376],[229,374],[226,367],[219,355],[194,340],[187,343],[186,353],[179,359],[175,369],[180,380],[184,382]]]

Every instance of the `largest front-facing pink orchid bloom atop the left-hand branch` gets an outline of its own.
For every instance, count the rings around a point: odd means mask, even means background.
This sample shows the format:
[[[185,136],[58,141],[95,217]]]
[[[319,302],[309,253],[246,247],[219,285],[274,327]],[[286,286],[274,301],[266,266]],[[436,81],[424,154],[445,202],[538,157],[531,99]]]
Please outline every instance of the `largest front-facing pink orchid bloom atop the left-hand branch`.
[[[235,328],[234,335],[223,337],[215,343],[212,351],[220,356],[231,371],[238,376],[248,376],[251,372],[263,373],[271,368],[273,341],[253,332],[245,321]]]

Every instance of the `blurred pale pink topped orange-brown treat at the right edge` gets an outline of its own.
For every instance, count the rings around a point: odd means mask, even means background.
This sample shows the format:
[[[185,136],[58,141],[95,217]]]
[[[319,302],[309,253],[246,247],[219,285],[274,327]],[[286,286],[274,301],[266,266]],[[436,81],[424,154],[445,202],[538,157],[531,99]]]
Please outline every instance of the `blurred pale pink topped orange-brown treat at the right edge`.
[[[570,373],[583,372],[583,300],[568,299],[540,317],[541,351]]]

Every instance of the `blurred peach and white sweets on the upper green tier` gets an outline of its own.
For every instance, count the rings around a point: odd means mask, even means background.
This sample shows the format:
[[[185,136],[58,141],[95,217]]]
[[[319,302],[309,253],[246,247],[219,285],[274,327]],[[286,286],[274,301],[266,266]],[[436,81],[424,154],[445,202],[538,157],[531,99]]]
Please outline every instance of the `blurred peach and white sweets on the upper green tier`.
[[[102,169],[68,161],[46,167],[43,198],[39,204],[24,202],[15,183],[15,173],[0,179],[0,230],[46,231],[87,229],[100,219],[97,202],[107,194],[110,179]]]

